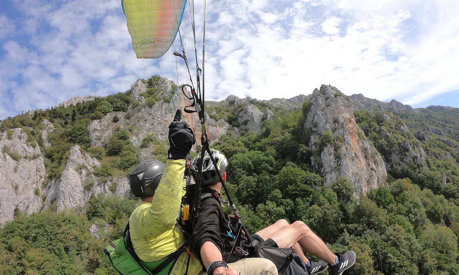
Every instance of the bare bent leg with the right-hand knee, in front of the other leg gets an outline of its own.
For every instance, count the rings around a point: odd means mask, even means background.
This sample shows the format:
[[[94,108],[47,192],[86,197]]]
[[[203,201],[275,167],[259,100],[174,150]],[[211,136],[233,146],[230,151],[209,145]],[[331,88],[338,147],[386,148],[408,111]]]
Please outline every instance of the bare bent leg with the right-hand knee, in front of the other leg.
[[[279,247],[292,247],[298,242],[308,253],[325,262],[334,264],[336,261],[335,254],[330,251],[325,242],[302,221],[296,221],[270,237]]]

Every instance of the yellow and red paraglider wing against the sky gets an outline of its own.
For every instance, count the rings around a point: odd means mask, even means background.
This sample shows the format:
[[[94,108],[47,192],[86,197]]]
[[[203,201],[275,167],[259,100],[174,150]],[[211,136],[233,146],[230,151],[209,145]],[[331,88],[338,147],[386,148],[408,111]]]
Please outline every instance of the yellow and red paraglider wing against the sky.
[[[186,0],[122,0],[137,58],[160,58],[177,35]]]

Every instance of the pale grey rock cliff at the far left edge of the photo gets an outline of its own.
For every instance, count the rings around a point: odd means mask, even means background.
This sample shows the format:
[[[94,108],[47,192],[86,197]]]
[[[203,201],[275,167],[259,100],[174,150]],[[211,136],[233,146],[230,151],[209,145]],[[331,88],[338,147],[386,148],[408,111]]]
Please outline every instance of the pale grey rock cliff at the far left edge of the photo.
[[[39,211],[45,164],[36,142],[28,142],[21,128],[0,133],[0,225],[12,220],[17,208]]]

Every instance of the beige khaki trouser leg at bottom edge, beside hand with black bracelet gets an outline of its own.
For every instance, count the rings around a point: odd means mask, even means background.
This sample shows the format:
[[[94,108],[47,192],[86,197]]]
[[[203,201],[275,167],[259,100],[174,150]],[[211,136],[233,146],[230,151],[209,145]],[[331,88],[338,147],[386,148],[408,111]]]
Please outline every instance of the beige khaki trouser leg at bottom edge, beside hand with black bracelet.
[[[246,258],[228,264],[229,268],[237,270],[239,275],[277,275],[277,268],[273,262],[262,258]],[[202,272],[200,275],[207,275]]]

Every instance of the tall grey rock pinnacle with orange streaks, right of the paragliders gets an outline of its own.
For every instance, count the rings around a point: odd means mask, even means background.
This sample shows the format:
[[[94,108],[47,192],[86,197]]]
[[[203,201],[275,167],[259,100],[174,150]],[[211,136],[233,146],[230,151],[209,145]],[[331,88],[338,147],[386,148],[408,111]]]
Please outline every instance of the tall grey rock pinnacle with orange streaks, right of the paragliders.
[[[355,122],[352,102],[340,94],[335,87],[322,85],[311,97],[304,127],[311,129],[309,145],[317,152],[311,158],[313,166],[324,176],[326,186],[338,176],[349,178],[357,194],[386,185],[381,155]],[[324,144],[322,138],[330,133],[333,141]]]

